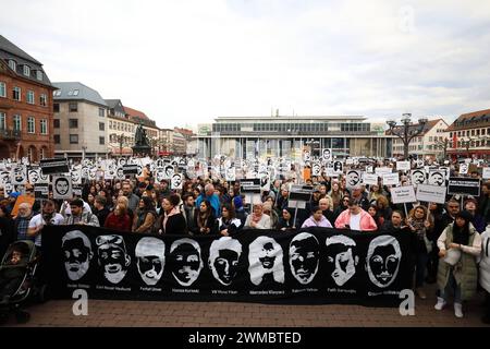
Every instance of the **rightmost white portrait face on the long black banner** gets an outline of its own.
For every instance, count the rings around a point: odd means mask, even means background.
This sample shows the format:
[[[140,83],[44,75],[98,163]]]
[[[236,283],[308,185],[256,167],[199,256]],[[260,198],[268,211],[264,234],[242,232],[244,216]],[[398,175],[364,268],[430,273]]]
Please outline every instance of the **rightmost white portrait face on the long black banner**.
[[[390,286],[400,269],[402,250],[392,236],[380,236],[369,243],[366,269],[369,280],[379,288]]]

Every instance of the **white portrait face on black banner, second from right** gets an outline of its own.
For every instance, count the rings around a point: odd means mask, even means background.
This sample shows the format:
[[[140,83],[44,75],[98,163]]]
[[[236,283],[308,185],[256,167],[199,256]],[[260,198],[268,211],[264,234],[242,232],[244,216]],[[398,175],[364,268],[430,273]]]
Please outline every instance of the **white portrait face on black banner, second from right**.
[[[336,286],[344,286],[355,274],[359,263],[356,243],[346,236],[327,238],[327,274]]]

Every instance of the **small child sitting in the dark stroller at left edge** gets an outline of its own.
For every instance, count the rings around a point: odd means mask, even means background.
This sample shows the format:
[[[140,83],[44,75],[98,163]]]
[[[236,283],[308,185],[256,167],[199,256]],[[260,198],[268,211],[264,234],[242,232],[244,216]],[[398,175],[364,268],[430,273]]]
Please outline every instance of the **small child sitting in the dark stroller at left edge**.
[[[8,303],[10,297],[21,286],[26,266],[26,253],[20,245],[14,246],[10,260],[0,266],[0,304]]]

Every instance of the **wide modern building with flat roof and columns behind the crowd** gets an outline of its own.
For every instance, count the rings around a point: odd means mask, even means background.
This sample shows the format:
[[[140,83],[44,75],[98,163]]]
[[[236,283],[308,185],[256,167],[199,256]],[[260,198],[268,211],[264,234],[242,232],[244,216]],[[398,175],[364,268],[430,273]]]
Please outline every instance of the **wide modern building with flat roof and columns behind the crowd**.
[[[217,154],[235,158],[287,157],[303,151],[320,156],[332,148],[336,157],[391,157],[392,137],[376,130],[363,116],[219,117],[198,125],[198,157]]]

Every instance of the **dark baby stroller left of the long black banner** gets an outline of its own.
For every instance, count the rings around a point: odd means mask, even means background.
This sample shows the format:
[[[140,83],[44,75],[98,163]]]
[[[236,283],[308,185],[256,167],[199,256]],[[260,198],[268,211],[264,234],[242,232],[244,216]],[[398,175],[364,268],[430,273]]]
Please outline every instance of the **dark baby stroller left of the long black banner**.
[[[20,284],[16,290],[8,296],[5,302],[0,304],[0,324],[5,323],[12,312],[15,314],[17,323],[28,322],[30,314],[22,308],[33,299],[44,302],[46,296],[46,285],[39,285],[36,278],[39,260],[33,241],[19,240],[11,243],[1,260],[0,268],[8,265],[14,250],[22,251],[22,254],[27,257],[27,265],[24,268],[19,268],[19,270],[23,270],[23,275],[19,278]]]

